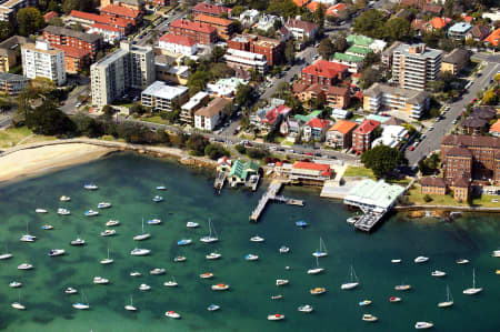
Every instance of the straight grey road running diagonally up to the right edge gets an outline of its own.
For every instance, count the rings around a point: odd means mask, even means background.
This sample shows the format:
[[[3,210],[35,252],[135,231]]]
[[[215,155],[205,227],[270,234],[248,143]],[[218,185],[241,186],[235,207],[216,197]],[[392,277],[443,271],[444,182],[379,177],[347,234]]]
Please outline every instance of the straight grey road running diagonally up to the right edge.
[[[500,63],[483,62],[484,68],[480,71],[481,76],[472,80],[469,90],[463,93],[462,98],[454,103],[449,104],[450,110],[444,113],[444,119],[434,122],[434,129],[426,132],[426,139],[420,142],[413,151],[407,150],[406,157],[409,165],[417,165],[418,162],[429,155],[432,151],[441,149],[441,139],[453,128],[453,120],[457,119],[476,98],[478,91],[482,91],[490,85],[490,80],[500,70]]]

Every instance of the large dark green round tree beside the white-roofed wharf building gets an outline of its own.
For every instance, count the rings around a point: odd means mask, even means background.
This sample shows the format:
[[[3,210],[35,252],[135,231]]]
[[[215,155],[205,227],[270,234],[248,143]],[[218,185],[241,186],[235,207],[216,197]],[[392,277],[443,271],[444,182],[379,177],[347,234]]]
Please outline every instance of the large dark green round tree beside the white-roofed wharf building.
[[[377,145],[361,154],[361,162],[371,169],[377,178],[382,178],[396,167],[408,163],[408,160],[398,149]]]

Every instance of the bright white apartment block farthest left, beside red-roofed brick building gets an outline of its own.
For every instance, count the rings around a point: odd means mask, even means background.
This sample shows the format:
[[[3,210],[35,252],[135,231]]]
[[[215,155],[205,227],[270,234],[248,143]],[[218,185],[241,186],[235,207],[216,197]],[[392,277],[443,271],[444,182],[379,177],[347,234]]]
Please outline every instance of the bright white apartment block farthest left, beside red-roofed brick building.
[[[22,72],[29,79],[46,78],[57,85],[66,83],[64,52],[50,47],[46,41],[21,47]]]

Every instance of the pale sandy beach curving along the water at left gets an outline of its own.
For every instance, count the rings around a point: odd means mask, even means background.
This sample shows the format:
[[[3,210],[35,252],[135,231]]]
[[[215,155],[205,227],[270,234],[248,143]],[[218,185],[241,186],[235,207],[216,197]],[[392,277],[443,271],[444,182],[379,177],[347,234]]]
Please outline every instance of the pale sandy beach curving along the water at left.
[[[99,159],[116,149],[73,143],[20,150],[0,157],[0,182]]]

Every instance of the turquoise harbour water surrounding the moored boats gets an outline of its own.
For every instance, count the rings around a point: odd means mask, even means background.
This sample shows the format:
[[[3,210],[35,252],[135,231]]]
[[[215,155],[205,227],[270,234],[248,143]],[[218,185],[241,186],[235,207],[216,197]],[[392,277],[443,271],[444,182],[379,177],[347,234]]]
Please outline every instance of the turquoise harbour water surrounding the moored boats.
[[[416,321],[432,321],[434,331],[499,331],[500,318],[500,260],[491,251],[500,247],[500,223],[497,215],[468,215],[456,222],[408,221],[392,217],[373,234],[352,231],[346,223],[350,212],[341,203],[318,198],[317,192],[287,188],[284,194],[304,199],[306,207],[271,204],[261,222],[248,222],[259,193],[243,190],[212,191],[213,175],[207,171],[191,170],[176,162],[121,153],[83,165],[61,170],[34,179],[0,187],[0,252],[8,243],[14,256],[0,261],[0,331],[413,331]],[[99,190],[82,189],[96,182]],[[168,191],[161,203],[151,199],[158,194],[156,185],[164,184]],[[71,195],[71,202],[59,202],[59,197]],[[111,209],[99,217],[86,218],[83,212],[97,209],[109,201]],[[71,215],[56,214],[66,207]],[[36,208],[49,210],[34,213]],[[131,256],[136,247],[132,237],[140,233],[141,218],[160,218],[160,225],[146,227],[152,238],[140,242],[140,248],[152,250],[149,256]],[[211,219],[220,242],[203,244],[199,238],[208,234],[207,220]],[[118,234],[102,238],[110,219],[120,220]],[[303,219],[310,227],[297,229],[294,222]],[[36,243],[19,241],[29,222]],[[199,229],[187,229],[187,221],[200,223]],[[50,223],[52,231],[41,230]],[[80,235],[87,241],[83,248],[69,245]],[[249,239],[259,234],[263,243]],[[320,259],[326,272],[308,275],[316,264],[311,253],[322,237],[329,255]],[[179,248],[177,241],[187,238],[193,243]],[[291,248],[280,254],[280,245]],[[107,255],[114,263],[101,265]],[[64,249],[67,254],[49,258],[50,249]],[[222,258],[208,261],[204,255],[218,250]],[[244,261],[254,253],[257,262]],[[186,255],[183,263],[174,263],[176,255]],[[418,255],[430,256],[423,264],[414,264]],[[391,259],[401,258],[399,265]],[[457,265],[458,258],[471,260],[469,265]],[[19,271],[20,263],[30,262],[32,271]],[[351,291],[341,291],[353,264],[361,282]],[[291,269],[286,270],[289,265]],[[153,268],[167,269],[166,275],[150,275]],[[478,285],[484,290],[477,296],[466,296],[462,290],[471,286],[472,268]],[[443,270],[448,275],[436,279],[432,270]],[[132,278],[133,270],[142,272]],[[212,272],[212,280],[201,280],[199,274]],[[100,275],[110,280],[108,285],[92,284]],[[166,288],[163,282],[174,276],[178,288]],[[276,286],[276,279],[288,279],[290,284]],[[16,311],[10,303],[18,300],[18,291],[8,286],[18,280],[23,283],[21,302],[27,311]],[[213,283],[231,285],[229,292],[213,292]],[[410,283],[409,292],[397,292],[396,284]],[[141,283],[151,285],[141,292]],[[446,285],[454,298],[454,306],[438,309],[444,301]],[[66,286],[83,291],[91,309],[74,310],[71,304],[80,295],[67,295]],[[327,288],[319,296],[309,294],[314,286]],[[123,309],[133,295],[137,313]],[[279,301],[271,295],[282,294]],[[400,303],[389,303],[388,298],[399,295]],[[360,308],[358,302],[373,301]],[[210,303],[221,305],[208,312]],[[300,313],[297,306],[309,303],[311,314]],[[164,312],[174,310],[181,320],[170,320]],[[269,322],[267,315],[282,313],[286,320]],[[379,318],[377,323],[361,321],[363,313]]]

